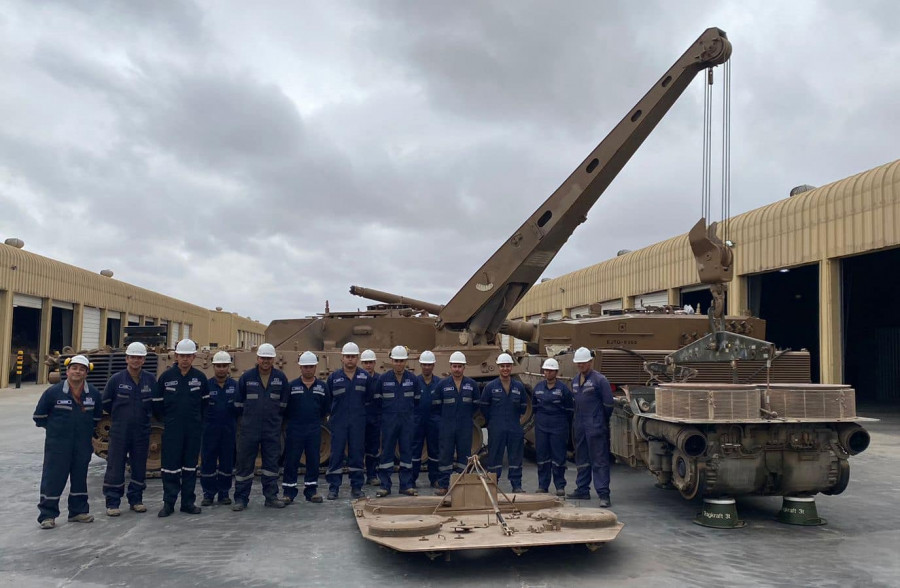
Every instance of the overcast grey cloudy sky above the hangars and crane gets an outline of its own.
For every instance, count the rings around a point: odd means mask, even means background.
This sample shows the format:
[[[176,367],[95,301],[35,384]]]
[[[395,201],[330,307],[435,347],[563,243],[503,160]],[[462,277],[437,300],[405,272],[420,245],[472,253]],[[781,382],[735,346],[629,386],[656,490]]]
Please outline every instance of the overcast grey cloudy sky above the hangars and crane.
[[[896,159],[898,21],[888,1],[0,0],[0,238],[263,322],[365,306],[351,284],[444,303],[710,26],[734,46],[733,213]],[[686,232],[701,129],[698,79],[546,276]]]

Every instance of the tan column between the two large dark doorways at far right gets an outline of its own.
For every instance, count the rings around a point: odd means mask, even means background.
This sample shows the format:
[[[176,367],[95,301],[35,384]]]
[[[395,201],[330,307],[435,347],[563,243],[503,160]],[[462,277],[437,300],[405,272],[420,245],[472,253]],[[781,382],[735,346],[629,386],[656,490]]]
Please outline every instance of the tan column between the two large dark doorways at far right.
[[[844,381],[841,345],[841,260],[819,262],[819,381]]]

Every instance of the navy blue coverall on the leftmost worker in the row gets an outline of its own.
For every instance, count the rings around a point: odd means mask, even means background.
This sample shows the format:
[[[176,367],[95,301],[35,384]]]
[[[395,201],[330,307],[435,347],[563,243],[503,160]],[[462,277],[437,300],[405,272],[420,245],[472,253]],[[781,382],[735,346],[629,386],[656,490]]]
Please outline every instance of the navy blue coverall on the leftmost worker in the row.
[[[84,383],[81,402],[75,400],[68,380],[44,390],[34,409],[34,424],[47,430],[38,522],[59,516],[59,498],[69,481],[69,518],[90,511],[87,468],[94,453],[91,437],[103,416],[100,392]]]

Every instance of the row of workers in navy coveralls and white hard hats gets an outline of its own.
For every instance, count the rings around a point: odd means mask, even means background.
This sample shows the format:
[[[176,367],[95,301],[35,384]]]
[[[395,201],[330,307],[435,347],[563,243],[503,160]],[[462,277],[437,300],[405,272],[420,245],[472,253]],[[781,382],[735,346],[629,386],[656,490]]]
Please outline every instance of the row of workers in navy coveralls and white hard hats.
[[[508,353],[497,358],[499,377],[484,389],[465,375],[466,357],[450,356],[450,375],[434,374],[435,356],[419,356],[422,373],[407,369],[405,347],[391,350],[391,369],[375,371],[371,350],[360,354],[355,343],[341,350],[341,369],[324,381],[316,377],[318,357],[305,351],[299,357],[300,377],[290,381],[274,367],[275,348],[269,343],[256,352],[257,365],[235,381],[229,376],[231,356],[213,356],[214,374],[207,378],[193,367],[196,344],[184,339],[175,346],[175,365],[158,377],[143,369],[147,349],[131,343],[126,349],[126,369],[115,374],[102,394],[87,381],[92,366],[83,355],[66,361],[66,378],[41,395],[33,418],[46,429],[38,523],[52,529],[59,516],[59,500],[69,482],[69,521],[89,523],[87,467],[93,453],[91,438],[103,413],[110,415],[109,453],[103,494],[106,514],[121,515],[123,495],[129,509],[147,511],[143,502],[150,420],[164,425],[162,437],[163,506],[159,517],[168,517],[181,499],[180,510],[198,514],[215,502],[243,511],[250,500],[257,457],[265,506],[284,508],[299,495],[298,469],[305,460],[303,496],[321,503],[318,493],[321,424],[328,417],[331,460],[325,479],[326,498],[338,498],[345,469],[350,495],[364,496],[363,485],[377,486],[377,497],[392,493],[396,448],[399,455],[399,492],[415,496],[423,454],[427,455],[428,480],[437,495],[446,495],[450,475],[462,471],[472,452],[473,417],[478,409],[488,430],[488,471],[497,475],[508,462],[507,477],[514,493],[522,489],[524,432],[520,422],[528,396],[525,386],[511,377],[514,365]],[[613,396],[609,382],[593,370],[586,348],[575,352],[578,369],[572,389],[557,378],[559,364],[547,359],[545,379],[535,386],[535,446],[538,493],[553,483],[556,494],[565,494],[566,445],[574,424],[576,489],[569,498],[590,498],[590,486],[609,500],[609,419]],[[362,367],[358,364],[361,363]],[[573,423],[574,419],[574,423]],[[240,427],[238,421],[240,420]],[[284,425],[284,427],[283,427]],[[281,433],[285,430],[284,473],[279,497]],[[240,429],[240,434],[238,434]],[[200,486],[203,498],[196,504],[198,457],[202,454]],[[131,476],[125,483],[125,466]],[[234,480],[234,500],[229,497]]]

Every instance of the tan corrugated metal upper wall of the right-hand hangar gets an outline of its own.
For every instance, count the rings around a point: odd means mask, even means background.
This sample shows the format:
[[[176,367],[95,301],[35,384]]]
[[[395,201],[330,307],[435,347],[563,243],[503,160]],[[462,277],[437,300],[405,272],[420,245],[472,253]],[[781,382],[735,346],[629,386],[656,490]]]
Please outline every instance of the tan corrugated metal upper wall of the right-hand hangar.
[[[729,237],[737,243],[735,275],[900,246],[900,160],[736,216]],[[536,284],[510,316],[697,282],[684,234]]]

